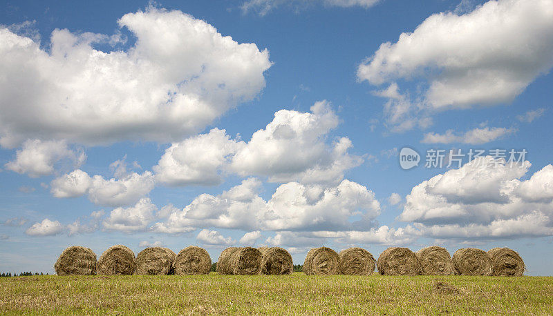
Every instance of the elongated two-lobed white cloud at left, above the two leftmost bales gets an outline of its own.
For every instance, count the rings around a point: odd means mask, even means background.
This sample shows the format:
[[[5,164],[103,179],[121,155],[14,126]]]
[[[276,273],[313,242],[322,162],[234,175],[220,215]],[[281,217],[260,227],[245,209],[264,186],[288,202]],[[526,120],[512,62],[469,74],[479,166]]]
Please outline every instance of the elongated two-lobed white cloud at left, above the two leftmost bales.
[[[153,174],[132,172],[120,179],[104,179],[100,175],[90,177],[82,170],[74,170],[50,183],[54,197],[79,197],[88,194],[94,204],[103,206],[128,206],[147,195],[155,186]]]

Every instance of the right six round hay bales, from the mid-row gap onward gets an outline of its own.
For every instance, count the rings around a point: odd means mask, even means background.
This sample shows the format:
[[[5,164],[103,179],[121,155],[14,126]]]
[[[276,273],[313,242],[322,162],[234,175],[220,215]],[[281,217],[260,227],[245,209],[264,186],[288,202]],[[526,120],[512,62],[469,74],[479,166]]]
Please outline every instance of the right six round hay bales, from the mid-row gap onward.
[[[336,253],[326,247],[311,249],[303,263],[307,275],[371,275],[375,266],[381,275],[523,275],[524,261],[509,248],[493,248],[488,252],[462,248],[453,257],[442,247],[430,246],[416,253],[409,248],[392,247],[375,260],[362,248],[349,248]]]

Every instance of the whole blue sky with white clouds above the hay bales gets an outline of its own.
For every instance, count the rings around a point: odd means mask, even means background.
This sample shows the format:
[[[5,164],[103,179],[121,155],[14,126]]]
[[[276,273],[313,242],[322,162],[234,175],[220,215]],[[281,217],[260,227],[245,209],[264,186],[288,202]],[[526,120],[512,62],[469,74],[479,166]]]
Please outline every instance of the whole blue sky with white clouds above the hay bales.
[[[440,244],[552,275],[550,1],[3,8],[0,270],[52,273],[74,244]]]

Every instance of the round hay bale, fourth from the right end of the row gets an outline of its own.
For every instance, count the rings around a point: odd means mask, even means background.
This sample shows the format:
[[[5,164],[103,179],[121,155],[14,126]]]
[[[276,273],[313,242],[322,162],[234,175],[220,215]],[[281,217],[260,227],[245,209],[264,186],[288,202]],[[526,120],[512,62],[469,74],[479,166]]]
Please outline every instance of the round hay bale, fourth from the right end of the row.
[[[409,248],[384,250],[378,257],[377,267],[381,275],[422,275],[419,259]]]

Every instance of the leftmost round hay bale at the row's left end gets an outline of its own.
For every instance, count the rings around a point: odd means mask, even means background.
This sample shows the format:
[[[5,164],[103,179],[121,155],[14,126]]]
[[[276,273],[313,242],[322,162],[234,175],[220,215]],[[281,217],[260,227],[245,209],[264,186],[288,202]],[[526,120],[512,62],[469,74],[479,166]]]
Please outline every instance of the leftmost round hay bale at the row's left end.
[[[96,254],[88,248],[71,246],[59,255],[54,270],[57,275],[95,275]]]

